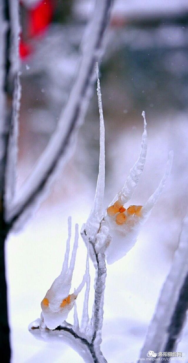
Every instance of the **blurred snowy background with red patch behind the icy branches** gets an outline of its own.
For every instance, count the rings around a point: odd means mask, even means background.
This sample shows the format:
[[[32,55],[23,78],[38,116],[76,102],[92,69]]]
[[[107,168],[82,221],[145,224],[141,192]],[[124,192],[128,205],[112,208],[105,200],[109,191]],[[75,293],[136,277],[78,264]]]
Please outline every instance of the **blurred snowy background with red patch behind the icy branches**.
[[[79,46],[94,0],[22,0],[22,98],[17,188],[32,171],[55,130],[76,77]],[[100,65],[106,129],[104,207],[122,188],[140,152],[142,110],[148,122],[148,155],[129,205],[143,205],[174,150],[172,175],[134,248],[107,266],[102,351],[108,363],[135,362],[178,244],[188,205],[188,3],[186,0],[116,0]],[[89,215],[98,174],[97,93],[71,159],[48,198],[7,244],[9,319],[13,363],[83,362],[65,343],[36,340],[27,330],[60,273],[67,218],[81,228]],[[84,273],[79,241],[73,287]],[[91,266],[90,312],[94,270]],[[84,291],[77,301],[81,314]],[[70,313],[68,322],[72,322]],[[188,325],[177,351],[188,360]],[[152,347],[150,347],[152,350]]]

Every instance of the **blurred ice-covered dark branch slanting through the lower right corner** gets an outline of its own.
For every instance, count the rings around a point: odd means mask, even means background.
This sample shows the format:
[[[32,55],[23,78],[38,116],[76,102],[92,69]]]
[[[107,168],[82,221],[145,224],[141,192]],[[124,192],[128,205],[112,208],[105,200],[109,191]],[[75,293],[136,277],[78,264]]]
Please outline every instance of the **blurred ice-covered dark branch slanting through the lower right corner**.
[[[148,350],[174,351],[188,308],[188,213],[183,220],[178,248],[163,285],[140,358]]]

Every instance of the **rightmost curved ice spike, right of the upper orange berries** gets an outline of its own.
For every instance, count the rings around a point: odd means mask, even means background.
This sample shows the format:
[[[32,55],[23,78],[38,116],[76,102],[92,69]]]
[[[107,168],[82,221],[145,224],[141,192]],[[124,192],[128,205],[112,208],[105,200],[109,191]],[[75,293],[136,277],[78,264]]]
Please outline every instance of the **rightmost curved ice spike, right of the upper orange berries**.
[[[166,181],[168,179],[168,176],[170,175],[171,168],[172,168],[172,161],[174,157],[174,152],[171,150],[168,154],[168,161],[166,165],[166,171],[163,175],[163,178],[161,179],[161,182],[158,186],[158,188],[155,190],[155,192],[149,197],[148,201],[145,203],[145,205],[142,207],[142,216],[147,215],[151,211],[151,209],[154,207],[155,203],[159,199],[159,196],[161,195]]]

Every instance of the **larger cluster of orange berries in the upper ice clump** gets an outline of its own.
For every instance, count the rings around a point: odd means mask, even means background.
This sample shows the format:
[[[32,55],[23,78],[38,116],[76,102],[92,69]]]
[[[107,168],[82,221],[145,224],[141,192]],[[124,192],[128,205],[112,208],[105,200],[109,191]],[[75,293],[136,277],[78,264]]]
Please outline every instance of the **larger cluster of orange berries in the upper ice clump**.
[[[113,205],[107,208],[107,215],[109,217],[116,215],[116,223],[122,225],[126,223],[129,216],[140,216],[142,205],[130,205],[129,208],[125,209],[123,205],[117,200]]]

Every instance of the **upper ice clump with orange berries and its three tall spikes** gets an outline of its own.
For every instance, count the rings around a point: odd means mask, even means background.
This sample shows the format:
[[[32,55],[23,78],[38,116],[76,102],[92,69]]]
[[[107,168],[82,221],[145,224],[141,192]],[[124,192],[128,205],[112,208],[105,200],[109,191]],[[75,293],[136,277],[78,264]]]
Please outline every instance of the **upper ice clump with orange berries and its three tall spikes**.
[[[98,67],[96,68],[98,76]],[[99,157],[99,174],[97,188],[94,198],[93,208],[87,222],[82,227],[82,237],[85,243],[87,238],[95,245],[95,252],[105,253],[108,264],[119,260],[134,246],[138,233],[142,225],[148,219],[151,209],[157,202],[165,187],[168,176],[171,172],[173,151],[169,152],[166,172],[155,192],[150,196],[144,206],[130,205],[126,206],[138,185],[138,181],[144,169],[147,153],[147,131],[145,112],[142,112],[144,118],[144,132],[142,134],[142,143],[140,156],[137,162],[130,170],[129,176],[125,181],[124,187],[112,200],[106,211],[102,214],[103,196],[104,196],[104,177],[105,177],[105,158],[104,158],[104,119],[102,110],[102,98],[99,78],[97,81],[97,94],[100,115],[100,157]],[[90,256],[95,261],[93,248],[90,247]]]

